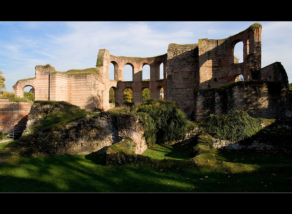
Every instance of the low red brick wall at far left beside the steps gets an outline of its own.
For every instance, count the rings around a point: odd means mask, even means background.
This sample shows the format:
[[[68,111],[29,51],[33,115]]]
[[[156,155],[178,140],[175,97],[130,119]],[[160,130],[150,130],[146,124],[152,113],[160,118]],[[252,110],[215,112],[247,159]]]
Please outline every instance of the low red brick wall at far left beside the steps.
[[[9,102],[7,99],[0,99],[0,132],[11,122],[27,123],[28,114],[32,104],[22,102]]]

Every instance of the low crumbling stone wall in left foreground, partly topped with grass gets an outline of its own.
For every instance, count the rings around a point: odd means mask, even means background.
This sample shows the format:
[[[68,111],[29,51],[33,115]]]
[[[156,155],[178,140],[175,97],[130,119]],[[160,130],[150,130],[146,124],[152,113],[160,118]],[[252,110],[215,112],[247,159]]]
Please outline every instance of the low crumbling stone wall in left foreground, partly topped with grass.
[[[124,138],[133,139],[136,154],[142,154],[147,149],[143,124],[133,114],[101,112],[49,130],[39,128],[48,114],[55,110],[62,113],[64,109],[80,110],[78,106],[66,102],[35,102],[29,115],[28,128],[17,144],[9,146],[11,152],[29,156],[105,153],[110,145]]]

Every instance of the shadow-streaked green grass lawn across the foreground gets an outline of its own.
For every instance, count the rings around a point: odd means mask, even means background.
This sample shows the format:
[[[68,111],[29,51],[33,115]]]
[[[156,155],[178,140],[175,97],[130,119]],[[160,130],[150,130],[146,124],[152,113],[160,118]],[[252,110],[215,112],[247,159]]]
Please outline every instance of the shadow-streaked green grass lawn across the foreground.
[[[191,147],[156,145],[144,154],[151,161],[122,166],[102,155],[1,152],[0,192],[291,192],[291,152],[202,148],[191,158]]]

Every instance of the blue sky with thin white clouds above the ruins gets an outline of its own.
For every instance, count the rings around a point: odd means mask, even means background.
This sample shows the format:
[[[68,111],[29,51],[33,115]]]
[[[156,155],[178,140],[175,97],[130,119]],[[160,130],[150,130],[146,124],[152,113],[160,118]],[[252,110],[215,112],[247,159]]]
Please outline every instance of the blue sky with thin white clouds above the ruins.
[[[6,91],[20,79],[35,77],[35,66],[56,71],[96,65],[99,49],[111,55],[153,57],[168,44],[223,39],[262,24],[262,67],[281,62],[292,82],[292,22],[0,22],[0,71]],[[241,48],[240,48],[241,49]],[[242,51],[242,50],[241,50]],[[242,60],[242,56],[235,55]]]

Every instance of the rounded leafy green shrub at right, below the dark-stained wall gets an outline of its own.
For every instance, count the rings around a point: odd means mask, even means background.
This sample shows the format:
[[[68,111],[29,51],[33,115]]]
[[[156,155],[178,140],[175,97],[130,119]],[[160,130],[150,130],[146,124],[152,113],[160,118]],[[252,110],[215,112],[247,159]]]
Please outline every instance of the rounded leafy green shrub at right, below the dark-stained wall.
[[[205,131],[215,138],[240,141],[256,134],[262,118],[253,118],[244,111],[230,110],[224,115],[209,115],[204,121]]]

